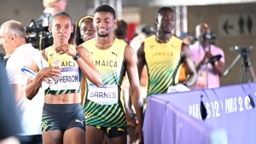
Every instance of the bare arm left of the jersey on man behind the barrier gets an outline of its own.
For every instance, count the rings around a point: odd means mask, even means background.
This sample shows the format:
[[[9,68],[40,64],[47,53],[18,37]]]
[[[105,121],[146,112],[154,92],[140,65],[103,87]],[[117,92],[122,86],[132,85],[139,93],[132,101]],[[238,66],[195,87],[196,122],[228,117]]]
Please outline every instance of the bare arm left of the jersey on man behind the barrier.
[[[140,49],[137,50],[137,69],[138,69],[138,75],[139,78],[142,78],[143,74],[143,67],[146,64],[145,60],[145,52],[144,52],[144,43],[142,43]]]

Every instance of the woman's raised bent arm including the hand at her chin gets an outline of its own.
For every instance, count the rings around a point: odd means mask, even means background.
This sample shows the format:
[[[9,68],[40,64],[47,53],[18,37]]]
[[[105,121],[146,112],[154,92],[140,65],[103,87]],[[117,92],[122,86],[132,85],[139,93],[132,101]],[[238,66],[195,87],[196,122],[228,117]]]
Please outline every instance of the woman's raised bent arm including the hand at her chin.
[[[84,76],[90,80],[91,83],[95,84],[96,86],[100,86],[102,84],[102,78],[100,73],[97,71],[96,66],[93,65],[92,61],[90,60],[90,54],[88,53],[87,49],[83,48],[76,48],[77,52],[73,49],[70,49],[69,44],[63,44],[56,49],[57,53],[60,54],[67,54],[72,57],[75,57],[77,53],[81,56],[82,59],[76,60],[80,69],[84,73]]]

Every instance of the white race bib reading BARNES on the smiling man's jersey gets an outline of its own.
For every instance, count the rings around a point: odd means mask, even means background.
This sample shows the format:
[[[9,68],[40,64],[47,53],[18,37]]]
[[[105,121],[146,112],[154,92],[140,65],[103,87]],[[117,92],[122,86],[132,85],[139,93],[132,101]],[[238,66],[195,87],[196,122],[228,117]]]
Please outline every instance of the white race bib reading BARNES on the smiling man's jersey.
[[[87,98],[100,105],[116,104],[118,103],[118,86],[102,84],[100,87],[96,87],[96,85],[90,84]]]

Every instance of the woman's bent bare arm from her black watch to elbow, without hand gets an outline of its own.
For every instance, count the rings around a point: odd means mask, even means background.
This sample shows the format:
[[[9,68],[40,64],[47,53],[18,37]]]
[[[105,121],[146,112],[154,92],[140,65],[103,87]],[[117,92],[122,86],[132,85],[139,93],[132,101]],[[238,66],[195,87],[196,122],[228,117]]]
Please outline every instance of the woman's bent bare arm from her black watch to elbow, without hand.
[[[97,71],[96,66],[92,63],[89,51],[84,47],[78,47],[76,50],[82,58],[77,60],[77,63],[84,73],[84,76],[88,78],[91,83],[96,84],[96,86],[100,86],[102,84],[102,77]]]

